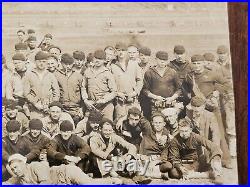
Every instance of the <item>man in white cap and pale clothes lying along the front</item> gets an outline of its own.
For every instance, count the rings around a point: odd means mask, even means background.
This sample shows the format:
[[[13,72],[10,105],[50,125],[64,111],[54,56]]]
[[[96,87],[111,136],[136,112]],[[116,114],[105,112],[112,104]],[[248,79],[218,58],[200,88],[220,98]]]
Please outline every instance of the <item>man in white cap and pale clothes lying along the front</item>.
[[[121,184],[119,179],[92,179],[71,164],[51,168],[43,162],[27,164],[20,154],[11,155],[8,164],[15,176],[3,184]]]

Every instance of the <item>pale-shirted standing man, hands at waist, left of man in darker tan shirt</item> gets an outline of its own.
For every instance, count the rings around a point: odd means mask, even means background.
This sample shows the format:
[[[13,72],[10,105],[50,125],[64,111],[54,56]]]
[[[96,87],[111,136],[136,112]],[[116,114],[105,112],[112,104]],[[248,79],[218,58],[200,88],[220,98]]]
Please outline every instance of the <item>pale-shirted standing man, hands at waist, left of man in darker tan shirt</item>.
[[[39,51],[35,56],[36,67],[24,78],[24,96],[29,103],[30,117],[42,118],[48,106],[58,101],[60,92],[56,77],[47,71],[47,52]]]

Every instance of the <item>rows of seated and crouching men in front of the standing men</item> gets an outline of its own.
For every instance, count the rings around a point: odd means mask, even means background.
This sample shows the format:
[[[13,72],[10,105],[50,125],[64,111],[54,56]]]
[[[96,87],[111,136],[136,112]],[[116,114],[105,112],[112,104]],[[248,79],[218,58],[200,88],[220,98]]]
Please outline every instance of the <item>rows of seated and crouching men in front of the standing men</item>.
[[[70,116],[61,111],[59,102],[49,106],[50,110],[57,109],[57,115],[51,110],[50,124],[46,118],[27,123],[13,118],[6,123],[6,136],[2,140],[3,179],[6,183],[41,183],[17,168],[23,166],[36,176],[42,175],[39,173],[42,166],[37,162],[46,161],[52,168],[73,164],[84,174],[92,173],[94,178],[123,176],[148,183],[151,178],[199,178],[200,172],[205,172],[203,177],[221,184],[223,154],[216,117],[205,110],[204,98],[193,97],[190,104],[193,113],[202,116],[203,123],[195,124],[188,115],[178,120],[180,110],[174,107],[154,112],[148,121],[139,108],[132,107],[127,116],[115,122],[92,111],[75,127]],[[6,115],[13,114],[13,110],[17,110],[17,105],[7,102]],[[52,124],[56,130],[50,134],[46,128]],[[105,161],[114,164],[118,160],[126,165],[136,161],[141,163],[141,169],[131,172],[128,168],[104,167]]]

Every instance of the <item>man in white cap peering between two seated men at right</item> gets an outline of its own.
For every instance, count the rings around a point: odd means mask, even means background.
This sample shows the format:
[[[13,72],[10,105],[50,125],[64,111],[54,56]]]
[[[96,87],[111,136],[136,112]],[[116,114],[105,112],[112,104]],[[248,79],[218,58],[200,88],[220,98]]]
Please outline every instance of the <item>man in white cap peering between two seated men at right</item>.
[[[176,108],[165,108],[162,110],[167,122],[166,127],[169,130],[169,137],[171,140],[179,133],[178,112],[179,111]]]

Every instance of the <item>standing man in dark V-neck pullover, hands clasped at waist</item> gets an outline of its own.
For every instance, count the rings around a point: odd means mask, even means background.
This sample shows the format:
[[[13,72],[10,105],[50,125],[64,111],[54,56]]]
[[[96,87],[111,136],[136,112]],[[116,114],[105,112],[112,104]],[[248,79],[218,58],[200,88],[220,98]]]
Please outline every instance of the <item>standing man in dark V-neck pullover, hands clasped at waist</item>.
[[[151,112],[173,106],[180,95],[180,81],[175,70],[168,66],[168,53],[156,53],[156,66],[144,75],[143,92],[151,100]]]

